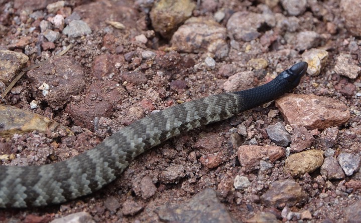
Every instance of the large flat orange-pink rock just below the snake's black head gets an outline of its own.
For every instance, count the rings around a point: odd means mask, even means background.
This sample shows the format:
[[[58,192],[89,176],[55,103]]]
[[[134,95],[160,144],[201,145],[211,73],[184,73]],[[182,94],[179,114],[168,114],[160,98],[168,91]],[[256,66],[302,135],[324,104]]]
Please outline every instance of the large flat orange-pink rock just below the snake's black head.
[[[339,126],[350,118],[350,112],[344,104],[311,94],[286,94],[276,100],[276,107],[291,126],[304,126],[307,129]]]

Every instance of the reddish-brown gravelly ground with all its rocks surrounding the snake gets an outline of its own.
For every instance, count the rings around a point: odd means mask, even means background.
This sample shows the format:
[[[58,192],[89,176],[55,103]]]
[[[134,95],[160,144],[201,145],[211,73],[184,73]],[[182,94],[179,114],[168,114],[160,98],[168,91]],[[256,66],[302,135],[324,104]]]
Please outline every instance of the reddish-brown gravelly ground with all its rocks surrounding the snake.
[[[309,64],[292,94],[0,221],[361,222],[358,0],[0,3],[2,165],[66,160],[151,112]]]

